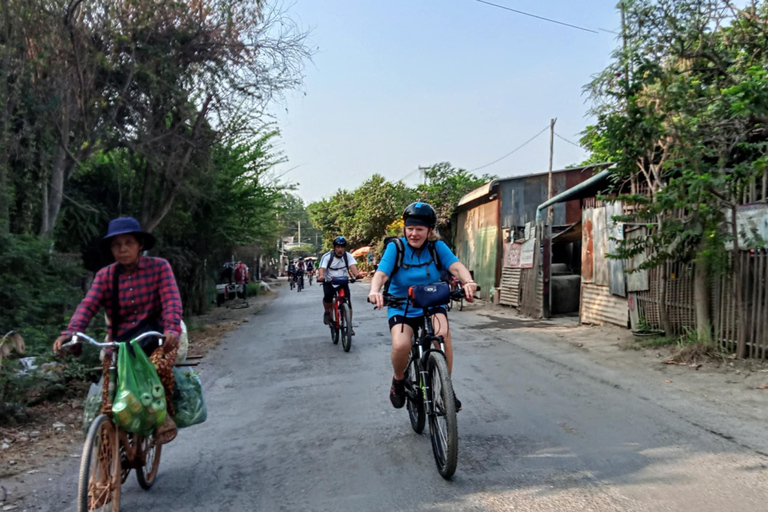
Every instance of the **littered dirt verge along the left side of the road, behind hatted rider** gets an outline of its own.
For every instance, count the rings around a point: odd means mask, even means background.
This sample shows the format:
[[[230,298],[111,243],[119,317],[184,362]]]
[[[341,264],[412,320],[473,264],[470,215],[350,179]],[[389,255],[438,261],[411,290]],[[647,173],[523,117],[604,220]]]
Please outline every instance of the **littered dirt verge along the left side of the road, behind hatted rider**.
[[[280,282],[270,283],[272,291],[238,300],[229,307],[216,307],[204,315],[188,319],[189,355],[205,356],[237,326],[252,321],[277,295]],[[83,395],[88,386],[83,385]],[[30,421],[15,427],[0,427],[0,479],[34,475],[38,468],[65,458],[79,458],[83,400],[71,399],[43,403],[31,408]],[[8,489],[0,487],[0,509],[13,503],[4,499]],[[17,497],[18,498],[18,497]],[[6,502],[7,501],[7,502]]]

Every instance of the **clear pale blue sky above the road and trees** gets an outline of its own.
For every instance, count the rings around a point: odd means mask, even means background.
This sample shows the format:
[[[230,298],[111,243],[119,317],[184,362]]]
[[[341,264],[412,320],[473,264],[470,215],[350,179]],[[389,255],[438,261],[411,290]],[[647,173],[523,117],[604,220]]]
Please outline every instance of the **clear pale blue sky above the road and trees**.
[[[594,30],[619,30],[617,0],[489,0]],[[374,173],[396,180],[419,165],[473,169],[557,117],[578,142],[589,123],[582,87],[609,62],[615,34],[592,34],[475,0],[297,0],[291,17],[317,48],[305,85],[273,112],[280,148],[300,166],[285,179],[307,202]],[[555,168],[586,153],[555,139]],[[478,174],[546,171],[545,133]],[[418,176],[412,174],[407,183]]]

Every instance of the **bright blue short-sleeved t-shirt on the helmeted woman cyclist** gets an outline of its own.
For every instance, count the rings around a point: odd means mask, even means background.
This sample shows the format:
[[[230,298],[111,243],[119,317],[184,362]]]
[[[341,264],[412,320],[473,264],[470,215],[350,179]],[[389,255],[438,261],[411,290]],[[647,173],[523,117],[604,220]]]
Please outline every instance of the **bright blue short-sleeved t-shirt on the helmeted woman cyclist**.
[[[408,245],[405,238],[401,238],[400,240],[402,240],[403,245],[405,245],[403,266],[401,266],[392,277],[392,282],[389,285],[389,293],[395,297],[406,297],[408,296],[408,288],[411,286],[439,282],[440,271],[437,270],[437,264],[432,260],[432,255],[429,253],[427,244],[424,244],[421,251],[417,251]],[[451,252],[442,240],[435,242],[435,250],[440,257],[440,265],[443,270],[448,270],[451,265],[459,261],[459,258]],[[388,277],[391,276],[396,261],[397,246],[394,243],[389,243],[379,262],[379,270],[387,274]],[[411,266],[410,268],[405,267],[405,265],[419,265],[427,262],[429,262],[429,265],[421,267]],[[413,306],[408,307],[408,317],[416,317],[423,314],[424,310],[421,308],[414,308]],[[389,318],[392,318],[395,315],[405,315],[405,306],[400,308],[389,308]]]

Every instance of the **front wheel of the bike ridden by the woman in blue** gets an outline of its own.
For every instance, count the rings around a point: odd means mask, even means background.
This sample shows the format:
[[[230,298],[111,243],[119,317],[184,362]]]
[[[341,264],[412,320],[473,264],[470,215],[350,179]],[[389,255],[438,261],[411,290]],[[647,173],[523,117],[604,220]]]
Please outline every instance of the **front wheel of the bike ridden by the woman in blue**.
[[[429,436],[440,476],[449,480],[459,458],[459,428],[456,402],[448,363],[440,352],[430,352],[427,361],[429,393],[434,413],[429,415]],[[443,418],[443,421],[440,421]]]

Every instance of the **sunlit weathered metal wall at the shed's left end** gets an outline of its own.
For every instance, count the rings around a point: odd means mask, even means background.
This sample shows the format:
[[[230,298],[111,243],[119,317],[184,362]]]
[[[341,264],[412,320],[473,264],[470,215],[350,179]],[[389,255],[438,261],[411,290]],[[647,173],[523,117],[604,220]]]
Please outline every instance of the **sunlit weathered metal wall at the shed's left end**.
[[[474,272],[480,285],[478,296],[490,297],[497,285],[496,266],[501,264],[498,235],[498,199],[459,212],[456,228],[456,255]]]

